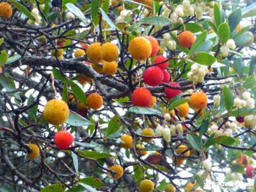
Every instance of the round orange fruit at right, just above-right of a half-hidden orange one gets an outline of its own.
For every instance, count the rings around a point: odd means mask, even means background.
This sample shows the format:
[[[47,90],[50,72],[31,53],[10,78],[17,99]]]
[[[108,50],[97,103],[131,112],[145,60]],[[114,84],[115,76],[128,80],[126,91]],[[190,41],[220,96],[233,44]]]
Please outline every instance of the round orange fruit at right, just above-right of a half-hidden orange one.
[[[189,104],[194,109],[204,109],[207,106],[208,97],[204,92],[193,93],[189,99]]]

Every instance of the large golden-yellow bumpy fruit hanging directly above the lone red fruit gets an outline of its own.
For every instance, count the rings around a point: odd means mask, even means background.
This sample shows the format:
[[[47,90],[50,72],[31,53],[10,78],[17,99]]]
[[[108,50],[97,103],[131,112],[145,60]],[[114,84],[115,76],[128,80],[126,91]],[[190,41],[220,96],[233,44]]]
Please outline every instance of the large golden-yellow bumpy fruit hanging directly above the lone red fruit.
[[[64,124],[68,118],[69,109],[66,102],[60,99],[52,99],[44,107],[43,116],[52,125]]]

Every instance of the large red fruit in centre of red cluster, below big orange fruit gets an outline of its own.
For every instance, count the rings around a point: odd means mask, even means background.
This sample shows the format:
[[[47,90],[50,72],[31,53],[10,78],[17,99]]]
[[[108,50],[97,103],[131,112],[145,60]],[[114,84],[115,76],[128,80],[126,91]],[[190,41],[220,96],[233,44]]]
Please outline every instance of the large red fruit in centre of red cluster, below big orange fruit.
[[[146,84],[150,86],[157,86],[163,82],[163,79],[164,79],[163,70],[161,70],[161,68],[156,66],[148,67],[143,72],[143,79]]]

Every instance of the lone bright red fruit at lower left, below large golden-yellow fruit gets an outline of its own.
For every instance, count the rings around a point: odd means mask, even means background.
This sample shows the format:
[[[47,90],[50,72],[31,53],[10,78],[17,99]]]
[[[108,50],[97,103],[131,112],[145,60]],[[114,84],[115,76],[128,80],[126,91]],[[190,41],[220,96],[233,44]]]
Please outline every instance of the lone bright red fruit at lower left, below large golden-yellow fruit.
[[[54,136],[54,143],[60,149],[67,149],[73,141],[74,137],[68,131],[58,131]]]

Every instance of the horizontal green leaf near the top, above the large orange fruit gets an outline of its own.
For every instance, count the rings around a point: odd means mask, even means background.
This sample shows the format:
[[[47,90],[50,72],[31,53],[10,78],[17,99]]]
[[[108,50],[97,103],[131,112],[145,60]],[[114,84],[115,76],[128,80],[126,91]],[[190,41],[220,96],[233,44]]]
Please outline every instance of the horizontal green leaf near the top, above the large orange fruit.
[[[167,17],[149,16],[139,20],[142,24],[148,24],[152,26],[168,26],[172,24],[172,21]]]

